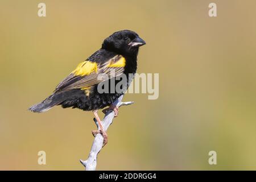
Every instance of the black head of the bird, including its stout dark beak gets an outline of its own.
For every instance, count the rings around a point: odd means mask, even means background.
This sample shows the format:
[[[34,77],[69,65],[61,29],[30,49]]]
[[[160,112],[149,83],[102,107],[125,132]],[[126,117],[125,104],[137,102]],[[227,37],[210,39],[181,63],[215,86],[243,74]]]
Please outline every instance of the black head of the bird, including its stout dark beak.
[[[122,55],[137,56],[140,46],[146,44],[139,35],[130,30],[114,32],[102,43],[102,48],[114,51]]]

